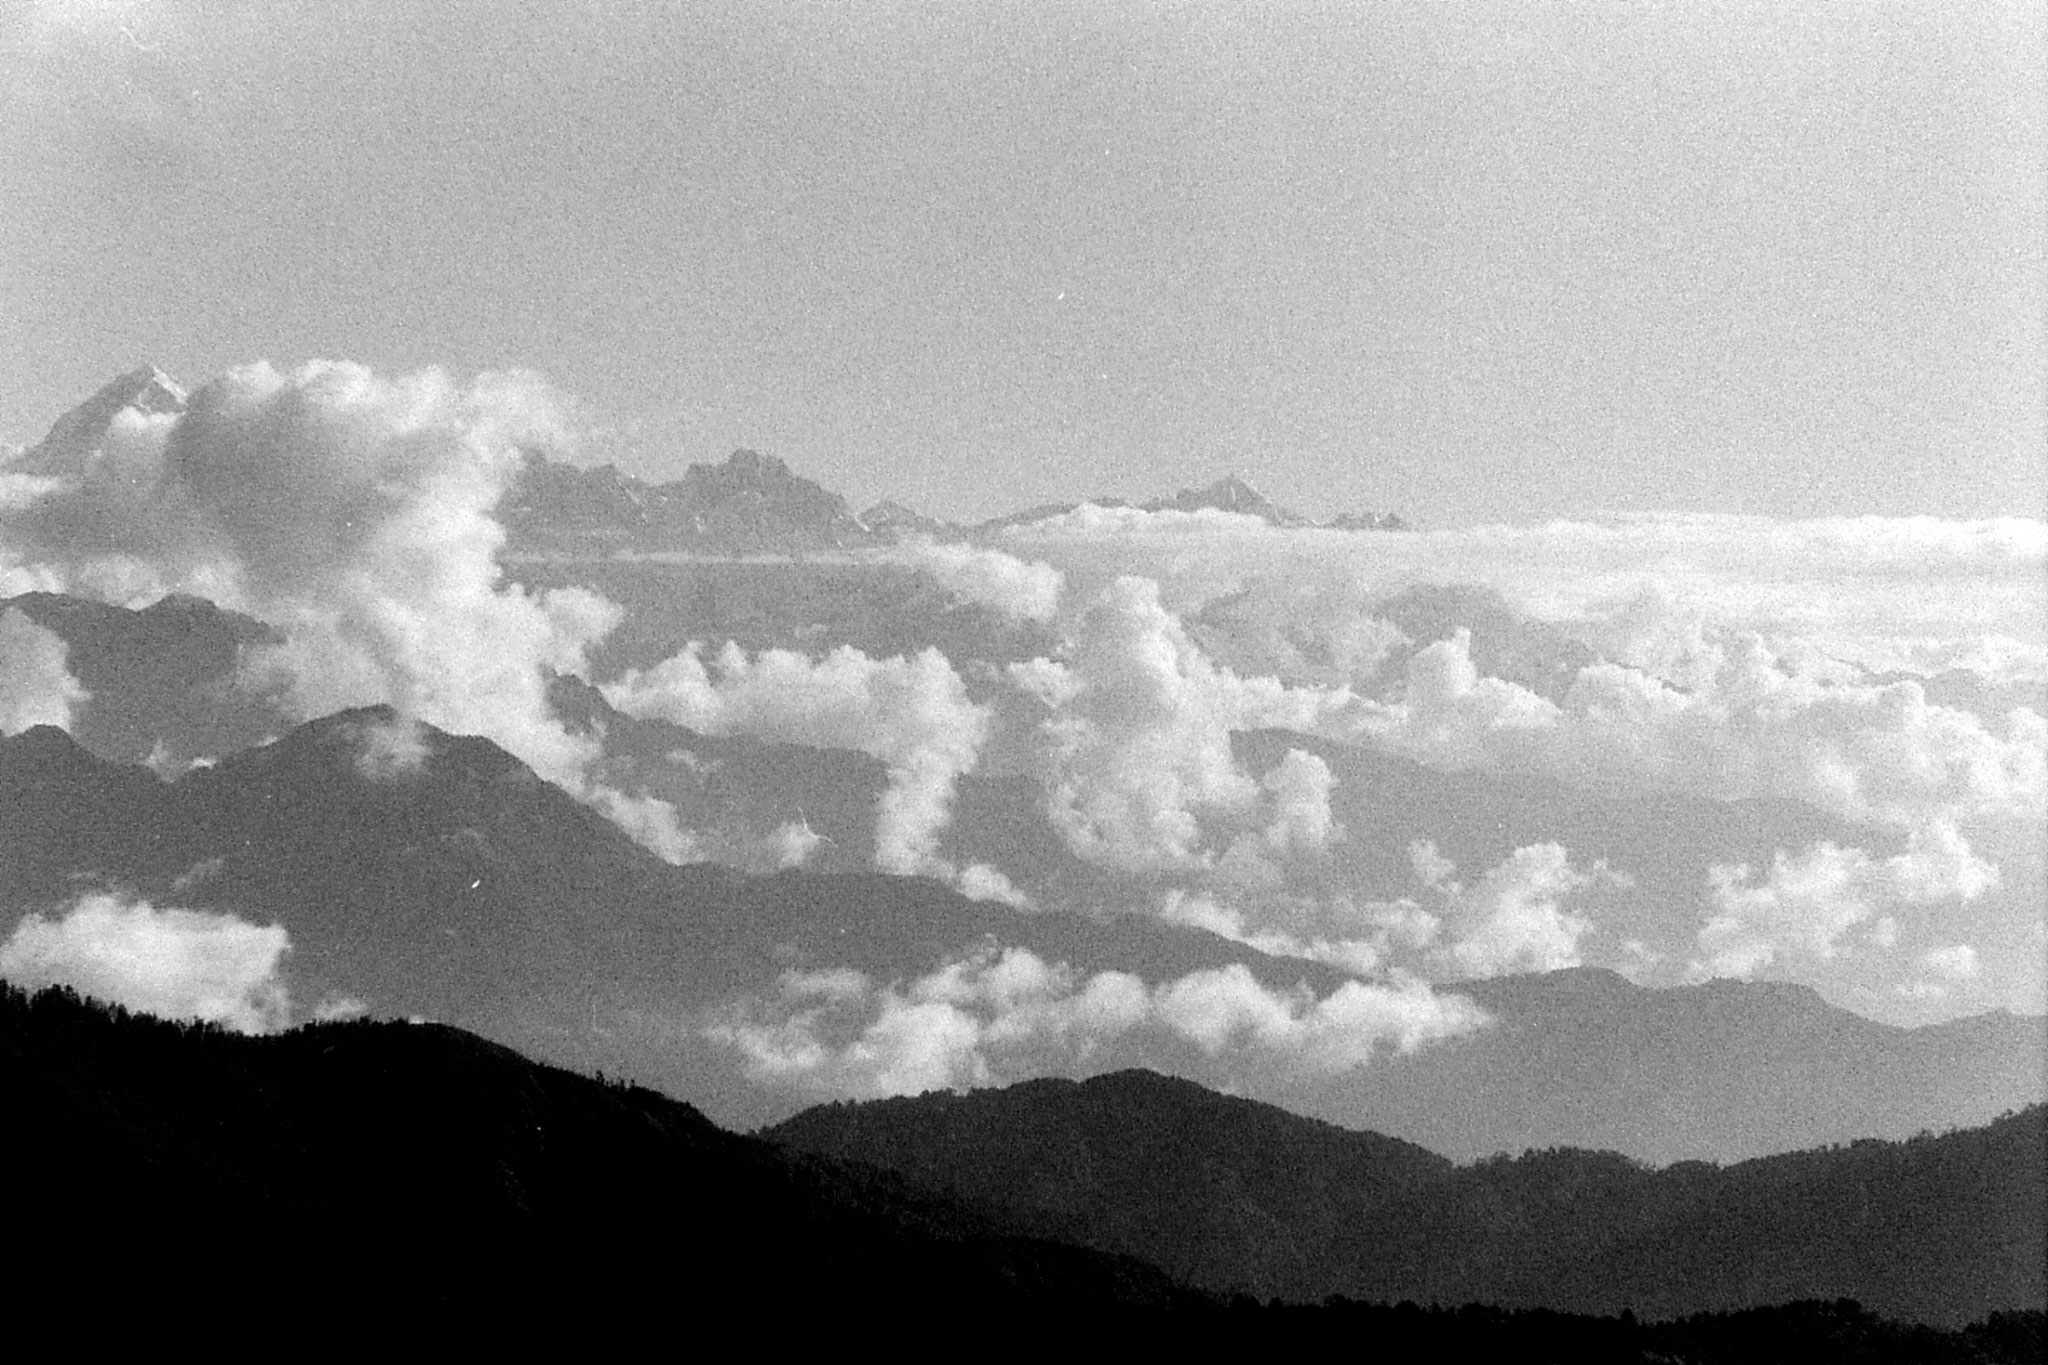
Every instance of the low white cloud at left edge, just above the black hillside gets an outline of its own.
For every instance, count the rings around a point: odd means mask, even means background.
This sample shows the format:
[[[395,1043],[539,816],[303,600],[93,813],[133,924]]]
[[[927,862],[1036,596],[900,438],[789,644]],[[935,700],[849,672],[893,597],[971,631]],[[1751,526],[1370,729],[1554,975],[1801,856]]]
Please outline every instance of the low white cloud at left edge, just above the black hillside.
[[[266,1033],[291,1021],[279,974],[289,948],[283,925],[88,894],[61,917],[25,917],[0,943],[0,976],[31,988],[72,986],[166,1019]]]

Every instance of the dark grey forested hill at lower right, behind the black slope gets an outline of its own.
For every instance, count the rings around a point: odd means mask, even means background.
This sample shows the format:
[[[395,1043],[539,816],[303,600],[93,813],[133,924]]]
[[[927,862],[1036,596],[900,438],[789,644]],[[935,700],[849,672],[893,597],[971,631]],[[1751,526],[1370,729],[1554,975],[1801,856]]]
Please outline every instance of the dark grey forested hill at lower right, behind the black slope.
[[[2048,1109],[1663,1171],[1466,1166],[1151,1072],[809,1109],[766,1132],[1223,1293],[1681,1316],[1853,1297],[1962,1324],[2048,1304]]]

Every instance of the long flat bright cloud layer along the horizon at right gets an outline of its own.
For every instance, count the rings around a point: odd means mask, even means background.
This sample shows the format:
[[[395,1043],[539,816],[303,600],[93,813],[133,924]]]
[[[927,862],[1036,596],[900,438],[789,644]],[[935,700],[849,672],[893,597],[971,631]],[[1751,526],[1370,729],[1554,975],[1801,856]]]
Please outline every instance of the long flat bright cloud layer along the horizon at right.
[[[1358,593],[1464,583],[1536,620],[1606,632],[1606,645],[1618,616],[1661,602],[1870,669],[1948,667],[1982,653],[2048,675],[2048,524],[2028,518],[1665,514],[1358,534],[1083,508],[1014,526],[1004,540],[1069,575],[1151,575],[1171,602],[1288,583],[1286,598],[1323,593],[1341,608]]]

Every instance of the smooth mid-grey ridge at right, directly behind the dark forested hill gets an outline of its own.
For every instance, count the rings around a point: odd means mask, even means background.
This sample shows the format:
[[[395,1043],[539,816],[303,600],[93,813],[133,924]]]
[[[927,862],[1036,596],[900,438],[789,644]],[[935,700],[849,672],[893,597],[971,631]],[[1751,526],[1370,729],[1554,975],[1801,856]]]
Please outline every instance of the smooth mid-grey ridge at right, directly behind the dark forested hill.
[[[1356,1072],[1305,1113],[1470,1158],[1526,1146],[1737,1160],[1909,1138],[2038,1103],[2048,1019],[2003,1011],[1901,1029],[1808,986],[1642,988],[1602,968],[1458,982],[1495,1025]]]

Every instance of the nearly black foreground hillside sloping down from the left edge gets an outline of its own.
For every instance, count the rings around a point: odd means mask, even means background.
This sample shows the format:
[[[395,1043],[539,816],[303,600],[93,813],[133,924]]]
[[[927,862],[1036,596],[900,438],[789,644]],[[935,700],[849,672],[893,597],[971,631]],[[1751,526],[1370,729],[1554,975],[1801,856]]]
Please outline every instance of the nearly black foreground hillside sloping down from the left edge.
[[[1430,1169],[1401,1144],[1378,1150]],[[1018,1351],[1372,1342],[1395,1357],[1962,1365],[2040,1359],[2044,1332],[2038,1312],[1944,1332],[1849,1302],[1663,1324],[1227,1302],[457,1029],[242,1038],[61,990],[0,988],[0,1160],[16,1320],[152,1349],[360,1351],[432,1332],[467,1349],[686,1351],[739,1332],[846,1351],[944,1332]]]

